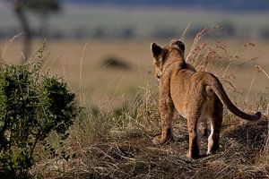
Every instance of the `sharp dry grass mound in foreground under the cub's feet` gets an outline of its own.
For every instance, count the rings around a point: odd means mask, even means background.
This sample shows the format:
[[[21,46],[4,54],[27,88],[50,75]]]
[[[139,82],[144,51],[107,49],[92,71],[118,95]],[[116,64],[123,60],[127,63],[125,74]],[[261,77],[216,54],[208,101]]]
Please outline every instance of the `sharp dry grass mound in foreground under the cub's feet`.
[[[184,119],[178,120],[178,115],[177,141],[152,144],[152,136],[160,132],[157,98],[152,91],[155,90],[143,89],[120,114],[86,114],[87,120],[74,125],[66,142],[66,149],[74,157],[41,160],[32,168],[33,174],[46,178],[269,177],[268,164],[261,158],[265,155],[267,121],[241,124],[226,112],[220,151],[213,156],[188,159],[187,124]],[[206,139],[202,146],[205,153]]]

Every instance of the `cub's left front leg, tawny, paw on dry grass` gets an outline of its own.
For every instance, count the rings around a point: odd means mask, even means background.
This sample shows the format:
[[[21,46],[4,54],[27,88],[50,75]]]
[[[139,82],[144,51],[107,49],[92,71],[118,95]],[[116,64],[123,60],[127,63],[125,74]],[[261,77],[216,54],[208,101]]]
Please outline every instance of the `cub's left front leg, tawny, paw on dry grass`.
[[[155,144],[161,144],[166,141],[173,141],[173,115],[174,104],[171,98],[161,98],[159,102],[161,115],[161,135],[154,137],[152,140]]]

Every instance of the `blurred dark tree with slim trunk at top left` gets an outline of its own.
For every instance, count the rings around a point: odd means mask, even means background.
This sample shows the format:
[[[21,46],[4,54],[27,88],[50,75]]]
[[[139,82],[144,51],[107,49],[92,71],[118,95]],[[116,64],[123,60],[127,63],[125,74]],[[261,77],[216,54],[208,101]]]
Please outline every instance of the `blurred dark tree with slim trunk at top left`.
[[[9,0],[6,0],[9,1]],[[44,31],[48,30],[48,14],[60,10],[60,2],[58,0],[11,0],[13,4],[13,12],[21,23],[24,33],[23,39],[23,60],[26,61],[30,55],[32,31],[30,22],[26,16],[27,11],[38,13],[40,16],[39,34],[44,35]]]

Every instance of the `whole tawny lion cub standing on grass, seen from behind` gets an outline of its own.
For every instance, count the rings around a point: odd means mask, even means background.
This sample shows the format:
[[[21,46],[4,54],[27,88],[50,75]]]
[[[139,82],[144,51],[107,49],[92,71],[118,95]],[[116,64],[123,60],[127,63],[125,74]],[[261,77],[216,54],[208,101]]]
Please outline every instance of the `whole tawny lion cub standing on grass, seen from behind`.
[[[195,68],[184,59],[185,45],[180,40],[172,40],[169,47],[159,47],[152,43],[155,76],[160,80],[159,111],[161,114],[161,135],[154,143],[173,140],[172,118],[176,108],[187,118],[189,133],[188,158],[199,158],[199,124],[209,121],[211,133],[208,137],[207,154],[219,149],[223,106],[243,119],[256,121],[261,113],[247,115],[232,104],[221,82],[210,72],[195,72]]]

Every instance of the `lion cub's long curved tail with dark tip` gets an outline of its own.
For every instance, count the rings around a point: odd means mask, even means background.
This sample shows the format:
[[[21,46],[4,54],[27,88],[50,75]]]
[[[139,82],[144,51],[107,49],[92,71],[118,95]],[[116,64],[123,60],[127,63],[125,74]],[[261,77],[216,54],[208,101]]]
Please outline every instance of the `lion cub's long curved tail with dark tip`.
[[[208,73],[208,77],[206,84],[211,87],[214,93],[221,99],[221,102],[228,107],[230,112],[234,115],[238,115],[239,117],[249,120],[249,121],[256,121],[261,118],[261,113],[256,112],[254,115],[248,115],[247,113],[241,111],[238,107],[236,107],[231,101],[230,98],[227,96],[221,81],[219,81],[213,74]]]

